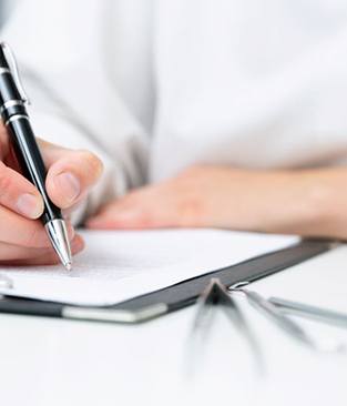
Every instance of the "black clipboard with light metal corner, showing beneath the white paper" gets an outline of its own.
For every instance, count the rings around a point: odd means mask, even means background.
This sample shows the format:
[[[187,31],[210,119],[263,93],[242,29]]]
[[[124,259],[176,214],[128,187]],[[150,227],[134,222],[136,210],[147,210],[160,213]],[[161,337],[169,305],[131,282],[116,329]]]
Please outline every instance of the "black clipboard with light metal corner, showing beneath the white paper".
[[[286,248],[259,255],[236,265],[214,270],[112,306],[74,306],[57,302],[2,296],[0,298],[0,313],[136,324],[195,304],[213,277],[218,278],[225,286],[232,286],[242,281],[254,282],[330,251],[335,246],[336,242],[328,240],[302,240]]]

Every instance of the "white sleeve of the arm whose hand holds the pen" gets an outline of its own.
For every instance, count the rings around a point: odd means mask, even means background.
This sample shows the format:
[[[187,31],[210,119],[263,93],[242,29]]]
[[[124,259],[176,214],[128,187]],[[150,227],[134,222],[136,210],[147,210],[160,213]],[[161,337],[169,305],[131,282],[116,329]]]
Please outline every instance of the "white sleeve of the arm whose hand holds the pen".
[[[88,149],[104,163],[74,222],[144,183],[147,135],[104,69],[103,2],[21,0],[1,32],[16,52],[38,136]]]

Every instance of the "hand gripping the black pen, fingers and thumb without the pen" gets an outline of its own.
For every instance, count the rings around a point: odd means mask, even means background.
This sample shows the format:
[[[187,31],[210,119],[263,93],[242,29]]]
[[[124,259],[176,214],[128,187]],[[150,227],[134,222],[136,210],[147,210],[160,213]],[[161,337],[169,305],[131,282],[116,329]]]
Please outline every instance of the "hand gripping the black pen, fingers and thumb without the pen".
[[[47,191],[54,204],[72,210],[98,181],[102,165],[85,151],[72,151],[39,140],[48,168]],[[0,123],[0,264],[58,263],[55,252],[38,220],[43,201],[38,190],[20,173],[8,134]],[[81,236],[69,224],[72,253],[83,248]]]

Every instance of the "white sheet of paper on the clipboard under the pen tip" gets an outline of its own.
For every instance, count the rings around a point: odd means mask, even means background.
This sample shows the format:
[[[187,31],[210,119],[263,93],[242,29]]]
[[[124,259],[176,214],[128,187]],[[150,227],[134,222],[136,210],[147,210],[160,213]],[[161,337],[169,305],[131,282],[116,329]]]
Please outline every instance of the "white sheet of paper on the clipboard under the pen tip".
[[[110,305],[288,246],[295,236],[217,230],[83,231],[73,270],[2,267],[0,294],[79,305]]]

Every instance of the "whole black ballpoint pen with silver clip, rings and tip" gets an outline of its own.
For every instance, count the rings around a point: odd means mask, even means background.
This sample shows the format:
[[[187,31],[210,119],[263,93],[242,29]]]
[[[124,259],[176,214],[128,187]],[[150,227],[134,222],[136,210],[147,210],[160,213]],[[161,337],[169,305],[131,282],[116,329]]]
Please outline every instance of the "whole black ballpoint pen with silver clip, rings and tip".
[[[72,256],[65,222],[61,211],[45,191],[47,170],[32,131],[25,104],[29,100],[19,78],[16,59],[8,44],[0,43],[0,114],[12,141],[16,158],[23,175],[42,195],[44,211],[41,216],[50,241],[60,261],[71,270]]]

